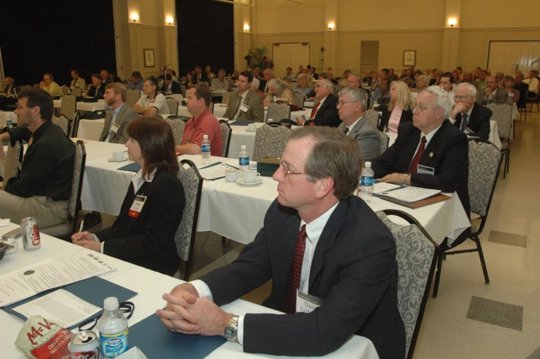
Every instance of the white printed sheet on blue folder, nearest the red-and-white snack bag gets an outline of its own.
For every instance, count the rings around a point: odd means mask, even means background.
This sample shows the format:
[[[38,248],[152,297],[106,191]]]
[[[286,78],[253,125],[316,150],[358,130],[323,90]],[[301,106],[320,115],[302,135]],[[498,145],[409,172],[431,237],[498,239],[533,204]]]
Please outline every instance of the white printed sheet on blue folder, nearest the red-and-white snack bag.
[[[101,308],[74,296],[69,291],[58,289],[46,296],[14,307],[13,310],[26,318],[42,316],[64,328],[69,328],[90,318]]]

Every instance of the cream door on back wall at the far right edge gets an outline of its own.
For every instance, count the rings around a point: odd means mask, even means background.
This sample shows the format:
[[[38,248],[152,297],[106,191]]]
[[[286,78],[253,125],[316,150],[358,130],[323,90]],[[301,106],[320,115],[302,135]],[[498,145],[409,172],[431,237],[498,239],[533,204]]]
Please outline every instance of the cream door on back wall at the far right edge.
[[[488,69],[492,74],[511,75],[521,70],[527,76],[532,68],[538,70],[540,63],[532,65],[532,61],[539,58],[540,41],[491,41]]]

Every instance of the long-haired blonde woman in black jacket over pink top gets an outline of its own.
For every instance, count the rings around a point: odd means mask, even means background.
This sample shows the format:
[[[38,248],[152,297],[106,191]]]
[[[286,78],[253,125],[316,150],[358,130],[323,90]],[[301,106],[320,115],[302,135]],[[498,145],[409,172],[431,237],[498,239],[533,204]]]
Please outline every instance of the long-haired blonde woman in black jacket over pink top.
[[[379,130],[397,134],[399,124],[413,121],[414,105],[415,98],[408,85],[402,81],[393,81],[390,84],[390,103],[382,107]]]

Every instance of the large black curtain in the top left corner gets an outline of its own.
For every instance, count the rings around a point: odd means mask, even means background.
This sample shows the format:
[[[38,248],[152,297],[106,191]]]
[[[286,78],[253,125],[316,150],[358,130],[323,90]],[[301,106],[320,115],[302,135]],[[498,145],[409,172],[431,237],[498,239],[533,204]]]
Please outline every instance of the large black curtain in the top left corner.
[[[69,85],[72,69],[87,84],[103,68],[116,71],[113,17],[112,0],[1,1],[5,75],[33,85],[49,72]]]

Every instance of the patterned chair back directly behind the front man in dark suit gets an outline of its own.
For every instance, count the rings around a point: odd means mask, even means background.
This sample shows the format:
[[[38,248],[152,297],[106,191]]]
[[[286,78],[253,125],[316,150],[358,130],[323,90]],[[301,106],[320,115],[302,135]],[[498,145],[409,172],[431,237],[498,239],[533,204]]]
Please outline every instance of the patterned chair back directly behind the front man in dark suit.
[[[391,215],[404,218],[410,224],[397,225],[388,218]],[[386,209],[377,212],[377,216],[390,229],[395,239],[398,269],[397,309],[405,325],[405,358],[413,358],[439,247],[424,227],[405,212]]]

